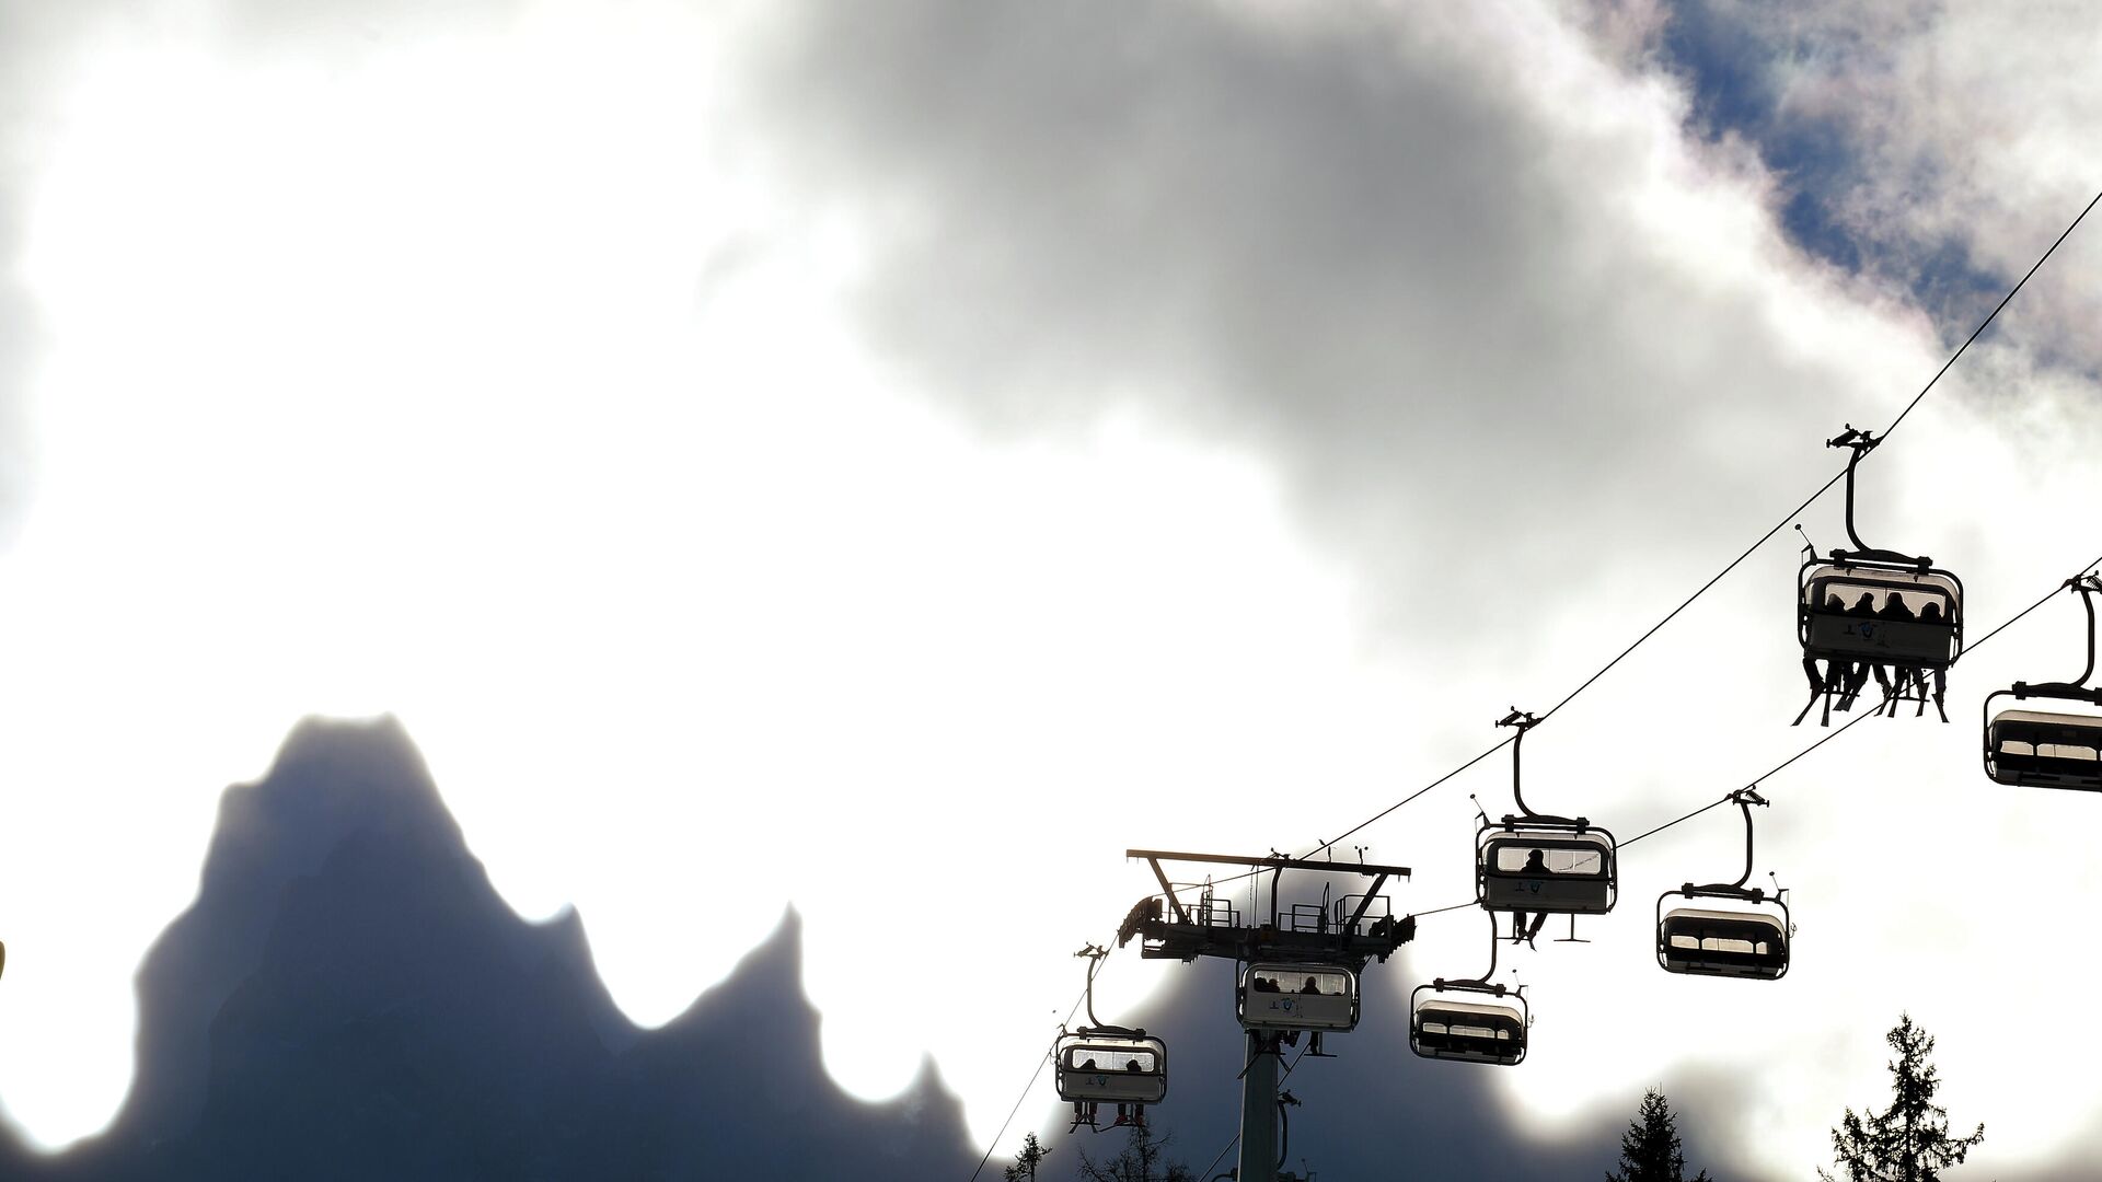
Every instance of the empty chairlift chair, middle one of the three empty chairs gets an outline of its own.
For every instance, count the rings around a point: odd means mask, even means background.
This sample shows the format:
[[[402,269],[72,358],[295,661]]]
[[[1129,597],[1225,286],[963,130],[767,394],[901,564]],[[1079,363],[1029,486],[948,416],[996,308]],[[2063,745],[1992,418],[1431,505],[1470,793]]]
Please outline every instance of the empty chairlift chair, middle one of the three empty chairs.
[[[1745,812],[1745,873],[1734,883],[1686,883],[1656,896],[1656,963],[1690,976],[1780,980],[1789,974],[1795,936],[1785,892],[1745,885],[1751,879],[1751,806],[1766,806],[1766,799],[1757,789],[1740,789],[1730,799]],[[1690,906],[1665,911],[1669,900]]]

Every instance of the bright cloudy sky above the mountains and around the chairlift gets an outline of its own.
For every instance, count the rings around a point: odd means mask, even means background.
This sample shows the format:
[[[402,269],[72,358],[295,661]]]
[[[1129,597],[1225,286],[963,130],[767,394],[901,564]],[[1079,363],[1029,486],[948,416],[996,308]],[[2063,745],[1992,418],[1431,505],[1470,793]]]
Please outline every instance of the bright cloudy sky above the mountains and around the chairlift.
[[[2098,38],[2049,4],[0,2],[4,1117],[114,1115],[223,787],[305,715],[393,713],[631,1018],[795,904],[834,1079],[933,1056],[990,1140],[1072,949],[1152,890],[1125,848],[1377,814],[1896,419],[2102,189]],[[1862,465],[1864,541],[1955,570],[1974,639],[2102,555],[2098,263],[2083,225]],[[1843,541],[1837,496],[1799,524]],[[1814,740],[1799,545],[1539,728],[1528,801],[1627,837]],[[1951,726],[1761,784],[1782,982],[1648,951],[1658,892],[1740,869],[1734,816],[1629,850],[1591,944],[1518,955],[1501,1100],[1551,1134],[1665,1083],[1801,1176],[1904,1010],[1978,1174],[2102,1153],[2003,1003],[2098,967],[2060,902],[2102,888],[2098,801],[1991,784],[1976,738],[1988,688],[2079,660],[2062,597],[1951,673]],[[1417,867],[1400,911],[1465,902],[1507,782],[1349,843]],[[1366,1005],[1482,938],[1427,917]],[[929,1022],[927,963],[986,986]],[[1118,953],[1097,1012],[1175,972]]]

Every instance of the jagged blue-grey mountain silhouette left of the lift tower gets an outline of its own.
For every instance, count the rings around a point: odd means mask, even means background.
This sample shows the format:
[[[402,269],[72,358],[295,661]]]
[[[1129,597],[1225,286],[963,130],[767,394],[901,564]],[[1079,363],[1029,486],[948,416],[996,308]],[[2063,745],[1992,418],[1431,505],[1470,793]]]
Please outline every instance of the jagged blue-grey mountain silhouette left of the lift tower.
[[[526,923],[391,717],[305,721],[227,789],[195,902],[139,976],[137,1075],[6,1178],[969,1176],[923,1068],[864,1104],[824,1073],[790,911],[679,1018],[635,1028],[582,923]]]

